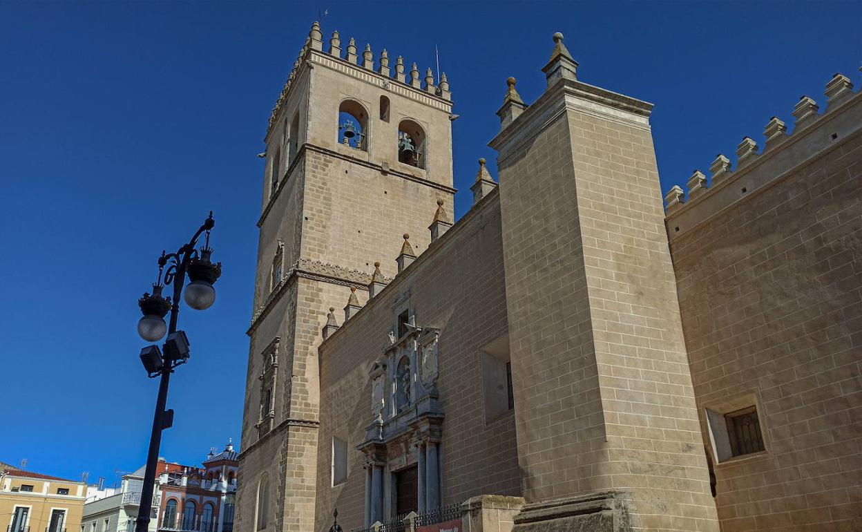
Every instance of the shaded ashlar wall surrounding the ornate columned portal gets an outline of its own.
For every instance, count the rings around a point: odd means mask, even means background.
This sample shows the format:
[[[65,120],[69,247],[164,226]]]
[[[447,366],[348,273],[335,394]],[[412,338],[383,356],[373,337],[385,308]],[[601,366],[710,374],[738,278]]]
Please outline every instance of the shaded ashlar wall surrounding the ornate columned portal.
[[[506,335],[501,246],[495,192],[346,324],[336,314],[340,329],[320,347],[315,530],[328,529],[335,507],[344,529],[363,524],[365,471],[356,445],[365,440],[372,421],[369,370],[383,356],[396,319],[393,303],[407,292],[416,324],[440,329],[437,386],[446,414],[440,443],[442,504],[485,493],[520,493],[514,416],[509,412],[486,421],[482,398],[481,350]],[[331,476],[333,435],[347,439],[347,480],[339,485]]]

